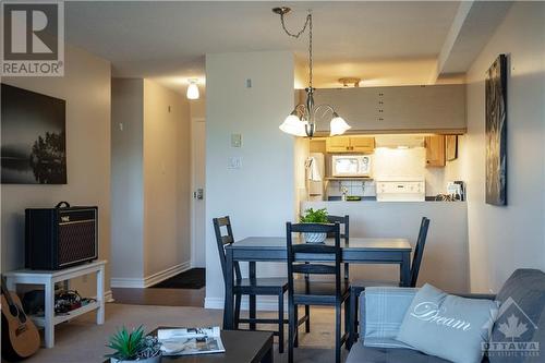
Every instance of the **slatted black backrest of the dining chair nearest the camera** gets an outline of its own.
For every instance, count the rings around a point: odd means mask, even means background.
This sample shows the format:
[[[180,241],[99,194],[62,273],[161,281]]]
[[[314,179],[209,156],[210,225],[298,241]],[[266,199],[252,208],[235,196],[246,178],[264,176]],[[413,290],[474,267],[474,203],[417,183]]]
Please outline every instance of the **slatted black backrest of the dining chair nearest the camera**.
[[[292,233],[334,233],[335,244],[325,243],[293,243]],[[301,275],[335,275],[336,297],[341,298],[341,258],[339,223],[286,223],[288,241],[288,292],[293,297],[293,281],[298,274]],[[330,263],[335,258],[335,264]]]

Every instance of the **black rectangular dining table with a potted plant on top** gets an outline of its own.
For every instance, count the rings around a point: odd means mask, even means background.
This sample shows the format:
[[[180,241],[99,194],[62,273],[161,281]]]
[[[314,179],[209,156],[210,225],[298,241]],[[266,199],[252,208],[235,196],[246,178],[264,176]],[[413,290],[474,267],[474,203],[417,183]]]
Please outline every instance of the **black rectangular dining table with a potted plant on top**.
[[[301,242],[299,239],[294,239]],[[324,243],[334,244],[332,239]],[[411,268],[411,244],[407,239],[395,238],[350,238],[341,240],[342,263],[349,264],[395,264],[399,265],[400,286],[408,286]],[[249,237],[226,246],[227,283],[226,283],[226,311],[223,312],[223,329],[234,328],[233,302],[233,264],[234,262],[249,262],[249,278],[255,278],[256,262],[287,262],[286,237]],[[313,261],[312,255],[305,259]],[[324,262],[324,255],[316,256],[316,261]],[[331,257],[331,261],[332,257]],[[250,295],[250,317],[255,317],[255,295]],[[255,324],[250,326],[255,329]]]

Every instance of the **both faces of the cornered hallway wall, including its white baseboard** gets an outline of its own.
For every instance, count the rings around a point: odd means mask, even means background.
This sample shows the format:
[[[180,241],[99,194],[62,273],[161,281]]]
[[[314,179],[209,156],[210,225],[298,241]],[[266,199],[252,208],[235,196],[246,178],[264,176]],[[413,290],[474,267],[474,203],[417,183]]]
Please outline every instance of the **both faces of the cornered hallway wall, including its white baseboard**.
[[[112,105],[112,286],[147,287],[191,266],[189,102],[114,78]]]

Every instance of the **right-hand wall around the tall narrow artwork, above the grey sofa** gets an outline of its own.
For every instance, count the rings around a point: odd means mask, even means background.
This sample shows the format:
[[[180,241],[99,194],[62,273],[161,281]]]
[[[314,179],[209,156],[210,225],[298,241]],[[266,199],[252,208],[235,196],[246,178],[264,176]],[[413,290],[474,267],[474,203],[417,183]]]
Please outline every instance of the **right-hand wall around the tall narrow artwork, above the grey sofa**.
[[[545,3],[514,2],[468,73],[468,181],[471,289],[497,291],[519,267],[545,269]],[[508,206],[485,204],[486,70],[509,56]]]

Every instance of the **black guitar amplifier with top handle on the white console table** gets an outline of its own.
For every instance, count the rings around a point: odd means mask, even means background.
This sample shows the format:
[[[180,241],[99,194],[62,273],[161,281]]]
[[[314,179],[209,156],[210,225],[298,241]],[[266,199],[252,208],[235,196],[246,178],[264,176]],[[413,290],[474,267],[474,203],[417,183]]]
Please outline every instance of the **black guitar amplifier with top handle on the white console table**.
[[[98,207],[25,209],[25,265],[62,269],[98,258]]]

